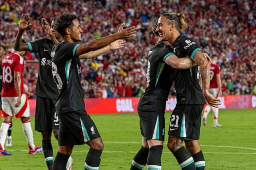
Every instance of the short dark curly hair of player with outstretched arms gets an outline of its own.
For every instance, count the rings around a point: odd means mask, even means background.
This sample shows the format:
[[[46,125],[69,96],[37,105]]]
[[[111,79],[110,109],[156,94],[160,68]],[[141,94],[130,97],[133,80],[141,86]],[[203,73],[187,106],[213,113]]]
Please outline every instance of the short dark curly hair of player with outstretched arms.
[[[77,19],[73,14],[61,14],[55,19],[54,29],[63,36],[66,28],[73,26],[73,20]]]

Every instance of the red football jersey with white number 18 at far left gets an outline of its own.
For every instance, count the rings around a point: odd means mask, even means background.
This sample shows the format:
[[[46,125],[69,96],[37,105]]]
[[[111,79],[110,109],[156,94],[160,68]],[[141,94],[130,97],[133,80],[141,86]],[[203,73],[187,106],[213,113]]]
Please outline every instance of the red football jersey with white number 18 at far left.
[[[20,72],[21,94],[25,94],[23,87],[24,60],[17,53],[10,53],[2,59],[2,97],[17,97],[14,85],[14,71]]]

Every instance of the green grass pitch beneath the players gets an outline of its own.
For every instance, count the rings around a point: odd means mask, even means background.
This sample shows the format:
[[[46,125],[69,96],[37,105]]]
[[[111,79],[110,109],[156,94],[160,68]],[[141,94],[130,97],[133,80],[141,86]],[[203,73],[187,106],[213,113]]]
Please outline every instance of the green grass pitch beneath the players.
[[[166,134],[170,112],[166,113]],[[105,148],[100,170],[129,170],[131,161],[140,149],[139,117],[136,113],[91,115],[102,136]],[[2,122],[2,119],[1,119]],[[31,117],[34,129],[34,117]],[[220,110],[219,122],[212,126],[212,113],[207,126],[201,126],[200,144],[206,170],[256,170],[256,109]],[[43,153],[29,155],[20,119],[13,119],[13,146],[6,147],[12,156],[0,156],[0,170],[47,170]],[[167,141],[166,136],[166,141]],[[35,144],[41,145],[41,133],[34,131]],[[162,155],[162,170],[180,170],[166,141]],[[58,149],[52,137],[54,156]],[[73,170],[83,170],[87,145],[73,149]],[[144,167],[144,170],[146,167]]]

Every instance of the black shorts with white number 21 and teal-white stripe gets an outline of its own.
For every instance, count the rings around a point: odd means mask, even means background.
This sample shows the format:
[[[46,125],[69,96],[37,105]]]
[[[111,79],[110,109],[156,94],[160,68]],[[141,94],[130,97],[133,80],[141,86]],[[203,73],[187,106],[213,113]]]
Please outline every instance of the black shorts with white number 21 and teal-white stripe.
[[[168,135],[184,140],[198,140],[203,107],[204,105],[176,105],[172,112]]]

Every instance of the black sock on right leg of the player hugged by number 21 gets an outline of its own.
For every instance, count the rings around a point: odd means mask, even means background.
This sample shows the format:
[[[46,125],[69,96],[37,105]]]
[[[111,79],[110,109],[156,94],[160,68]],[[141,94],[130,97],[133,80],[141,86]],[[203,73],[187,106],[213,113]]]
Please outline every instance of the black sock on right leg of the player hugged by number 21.
[[[155,145],[149,148],[147,169],[149,167],[158,166],[161,169],[161,156],[163,152],[163,145]]]

